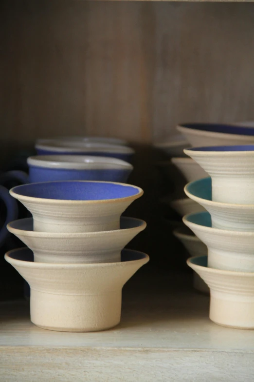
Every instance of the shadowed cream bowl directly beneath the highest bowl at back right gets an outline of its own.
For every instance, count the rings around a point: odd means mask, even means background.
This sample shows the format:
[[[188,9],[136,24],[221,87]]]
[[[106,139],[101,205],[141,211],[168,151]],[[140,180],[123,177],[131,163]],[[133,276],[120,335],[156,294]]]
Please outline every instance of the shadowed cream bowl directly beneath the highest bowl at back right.
[[[181,171],[187,182],[208,177],[207,172],[191,158],[172,158],[171,162]]]

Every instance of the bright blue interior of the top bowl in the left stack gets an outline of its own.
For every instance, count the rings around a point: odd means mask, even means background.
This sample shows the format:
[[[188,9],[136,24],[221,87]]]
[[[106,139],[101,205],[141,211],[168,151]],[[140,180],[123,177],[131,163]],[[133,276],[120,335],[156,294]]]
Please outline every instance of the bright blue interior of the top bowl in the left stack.
[[[131,185],[90,181],[30,183],[13,188],[20,196],[69,201],[98,201],[134,196],[140,190]]]

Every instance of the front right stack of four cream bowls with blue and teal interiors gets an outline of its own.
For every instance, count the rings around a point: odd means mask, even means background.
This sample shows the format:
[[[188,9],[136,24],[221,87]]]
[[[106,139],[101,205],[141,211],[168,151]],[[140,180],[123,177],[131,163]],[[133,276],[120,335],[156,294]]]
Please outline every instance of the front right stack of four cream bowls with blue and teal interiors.
[[[211,178],[185,192],[208,212],[184,223],[208,247],[208,256],[188,265],[208,284],[210,319],[220,325],[254,329],[254,145],[185,150]]]

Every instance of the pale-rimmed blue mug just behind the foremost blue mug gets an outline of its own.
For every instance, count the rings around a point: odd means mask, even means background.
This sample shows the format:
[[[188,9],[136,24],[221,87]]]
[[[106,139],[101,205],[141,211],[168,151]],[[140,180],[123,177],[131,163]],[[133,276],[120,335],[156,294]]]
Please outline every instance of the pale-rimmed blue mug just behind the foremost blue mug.
[[[92,155],[97,157],[112,157],[122,161],[130,161],[134,150],[123,145],[94,143],[82,141],[45,140],[36,144],[37,155]]]

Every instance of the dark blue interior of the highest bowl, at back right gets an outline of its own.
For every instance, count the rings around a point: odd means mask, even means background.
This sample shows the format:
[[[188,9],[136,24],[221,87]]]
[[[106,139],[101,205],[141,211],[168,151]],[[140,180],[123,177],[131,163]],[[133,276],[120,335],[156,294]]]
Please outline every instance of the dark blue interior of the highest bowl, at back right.
[[[221,123],[184,123],[181,124],[182,127],[188,129],[195,129],[200,131],[211,131],[214,133],[223,134],[237,134],[237,135],[254,135],[253,127],[235,126],[227,125]]]

